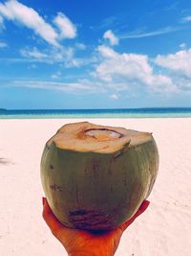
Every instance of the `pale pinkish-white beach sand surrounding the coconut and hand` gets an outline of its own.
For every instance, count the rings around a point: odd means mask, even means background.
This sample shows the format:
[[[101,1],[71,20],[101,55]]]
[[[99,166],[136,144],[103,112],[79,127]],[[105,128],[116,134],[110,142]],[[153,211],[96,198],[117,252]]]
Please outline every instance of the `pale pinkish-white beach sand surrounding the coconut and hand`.
[[[45,142],[75,121],[82,120],[0,120],[1,256],[67,255],[41,217],[39,163]],[[89,121],[152,131],[159,147],[151,204],[124,232],[116,255],[191,255],[191,119]]]

